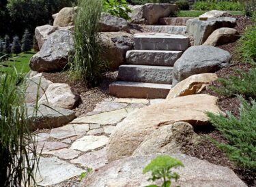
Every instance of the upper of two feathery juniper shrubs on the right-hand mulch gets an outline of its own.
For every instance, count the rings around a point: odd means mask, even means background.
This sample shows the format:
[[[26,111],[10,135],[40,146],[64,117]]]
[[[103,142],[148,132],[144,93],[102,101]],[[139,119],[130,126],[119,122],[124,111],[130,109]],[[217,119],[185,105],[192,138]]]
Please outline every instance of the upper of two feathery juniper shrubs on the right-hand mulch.
[[[256,99],[256,68],[248,72],[238,71],[238,75],[230,76],[228,79],[219,78],[220,88],[210,87],[218,94],[232,97],[235,95],[244,95],[246,98]]]

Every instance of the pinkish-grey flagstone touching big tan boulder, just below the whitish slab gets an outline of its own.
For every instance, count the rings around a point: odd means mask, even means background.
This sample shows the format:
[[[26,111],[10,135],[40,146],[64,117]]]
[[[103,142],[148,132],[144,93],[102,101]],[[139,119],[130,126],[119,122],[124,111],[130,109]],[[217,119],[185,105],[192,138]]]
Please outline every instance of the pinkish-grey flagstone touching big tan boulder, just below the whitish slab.
[[[87,152],[86,154],[79,156],[79,158],[70,160],[70,162],[79,164],[83,167],[97,169],[108,163],[106,159],[106,148],[98,151]]]

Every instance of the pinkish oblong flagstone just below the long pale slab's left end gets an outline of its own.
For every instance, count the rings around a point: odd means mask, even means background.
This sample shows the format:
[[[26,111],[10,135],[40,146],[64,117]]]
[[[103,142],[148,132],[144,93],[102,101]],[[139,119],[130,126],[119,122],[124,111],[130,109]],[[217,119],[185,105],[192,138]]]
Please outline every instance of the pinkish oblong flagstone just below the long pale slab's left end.
[[[51,137],[64,139],[77,135],[85,135],[89,131],[89,124],[67,124],[51,130]]]

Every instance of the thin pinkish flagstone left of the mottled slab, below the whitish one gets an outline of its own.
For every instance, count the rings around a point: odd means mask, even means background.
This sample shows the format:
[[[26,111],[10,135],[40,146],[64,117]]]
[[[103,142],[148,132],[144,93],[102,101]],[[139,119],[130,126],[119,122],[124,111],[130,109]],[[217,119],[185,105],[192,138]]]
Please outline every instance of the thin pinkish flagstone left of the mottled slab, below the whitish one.
[[[51,154],[53,156],[57,156],[59,158],[65,159],[65,160],[76,158],[77,156],[79,156],[80,153],[81,153],[80,151],[71,150],[68,148],[44,152],[44,154]]]

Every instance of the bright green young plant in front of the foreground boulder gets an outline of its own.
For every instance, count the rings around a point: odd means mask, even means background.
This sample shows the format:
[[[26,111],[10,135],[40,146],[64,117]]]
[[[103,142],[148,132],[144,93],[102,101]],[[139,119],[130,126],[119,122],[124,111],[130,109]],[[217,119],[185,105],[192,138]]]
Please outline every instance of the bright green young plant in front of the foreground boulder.
[[[180,160],[170,156],[156,156],[151,162],[143,169],[143,174],[152,172],[152,177],[149,180],[153,182],[162,179],[161,187],[171,186],[171,179],[175,182],[179,179],[180,175],[172,172],[171,169],[177,167],[184,167]],[[157,185],[150,185],[147,187],[158,187]]]

